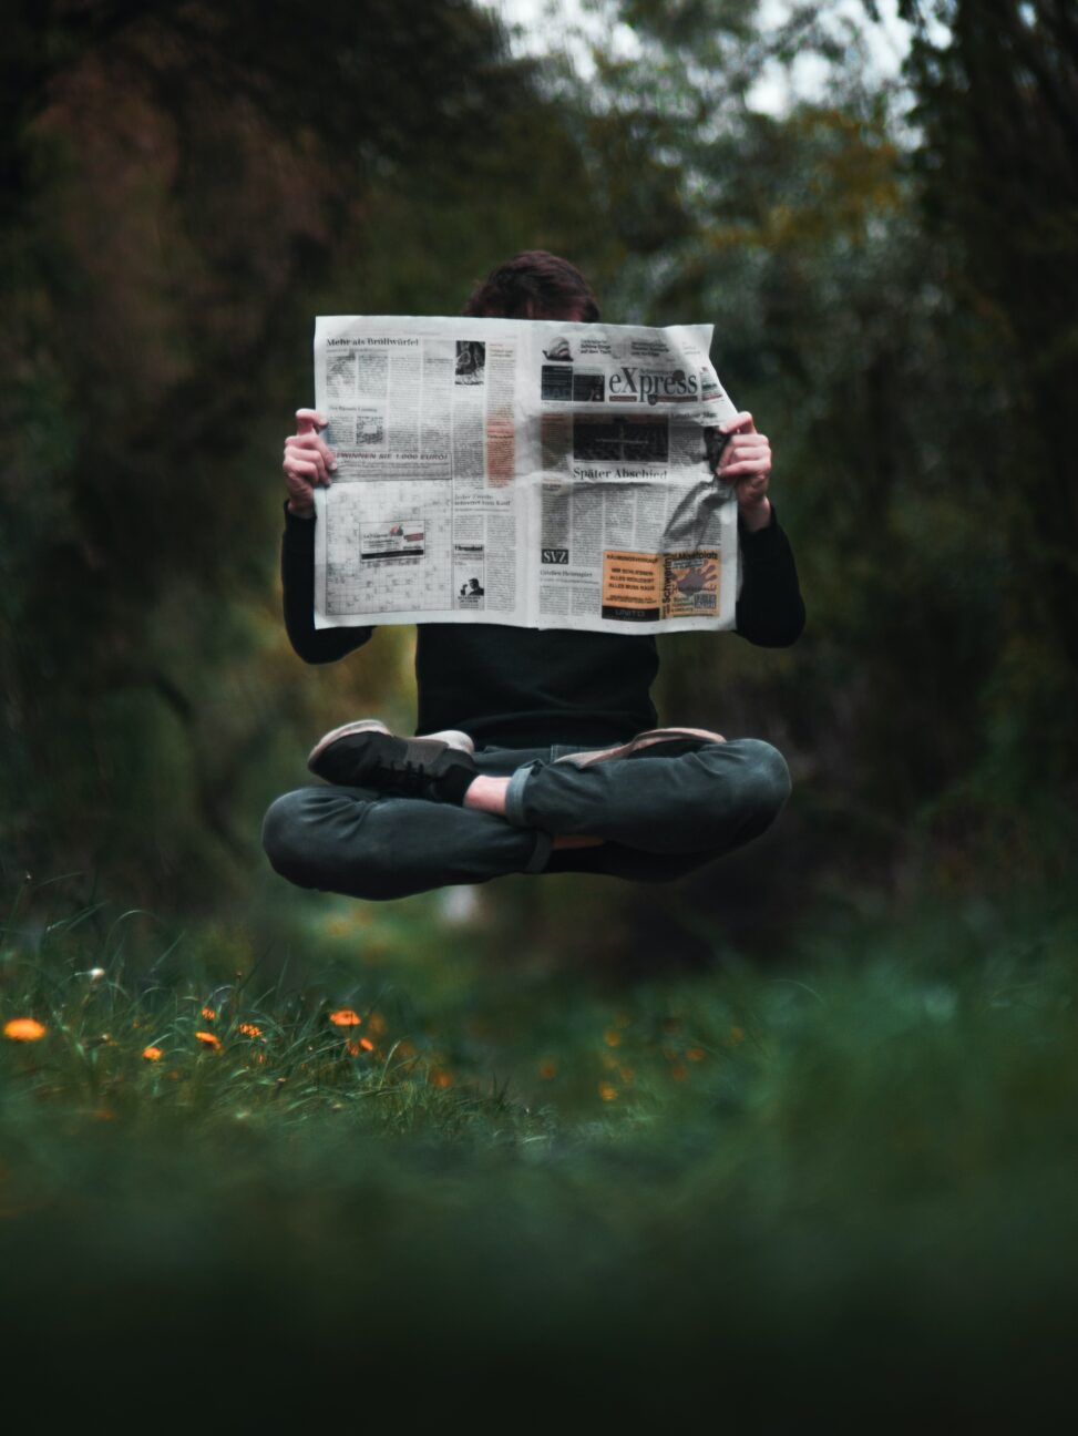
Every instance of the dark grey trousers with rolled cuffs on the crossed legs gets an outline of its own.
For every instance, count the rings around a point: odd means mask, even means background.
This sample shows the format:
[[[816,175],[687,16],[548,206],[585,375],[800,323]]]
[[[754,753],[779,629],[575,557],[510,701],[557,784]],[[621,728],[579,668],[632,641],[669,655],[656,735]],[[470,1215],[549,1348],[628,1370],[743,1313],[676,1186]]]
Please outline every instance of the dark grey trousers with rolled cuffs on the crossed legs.
[[[507,873],[600,873],[670,882],[751,841],[789,797],[782,754],[758,738],[678,757],[556,763],[580,745],[484,748],[479,773],[510,777],[507,816],[334,784],[286,793],[263,847],[300,887],[380,900]],[[558,834],[596,847],[551,850]]]

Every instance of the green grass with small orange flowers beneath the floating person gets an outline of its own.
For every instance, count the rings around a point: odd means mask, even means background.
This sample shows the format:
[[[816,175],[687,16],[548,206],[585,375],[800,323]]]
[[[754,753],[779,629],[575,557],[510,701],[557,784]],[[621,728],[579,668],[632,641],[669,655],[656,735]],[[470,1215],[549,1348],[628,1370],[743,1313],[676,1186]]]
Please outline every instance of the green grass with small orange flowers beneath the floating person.
[[[419,1417],[478,1414],[497,1374],[514,1425],[589,1397],[733,1430],[1049,1409],[1072,906],[863,916],[632,982],[444,910],[293,905],[291,982],[257,951],[277,919],[133,945],[92,909],[9,920],[0,1020],[44,1028],[0,1041],[27,1379],[212,1373],[238,1412],[362,1377]]]

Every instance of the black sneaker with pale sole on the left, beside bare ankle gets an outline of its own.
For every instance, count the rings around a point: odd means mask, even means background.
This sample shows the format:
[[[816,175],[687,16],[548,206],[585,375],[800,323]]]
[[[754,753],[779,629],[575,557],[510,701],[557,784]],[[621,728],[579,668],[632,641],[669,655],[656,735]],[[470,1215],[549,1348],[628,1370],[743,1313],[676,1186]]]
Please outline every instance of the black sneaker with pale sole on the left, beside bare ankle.
[[[462,803],[479,773],[474,751],[472,740],[456,728],[398,738],[378,718],[362,718],[320,738],[307,767],[327,783],[432,803]]]

